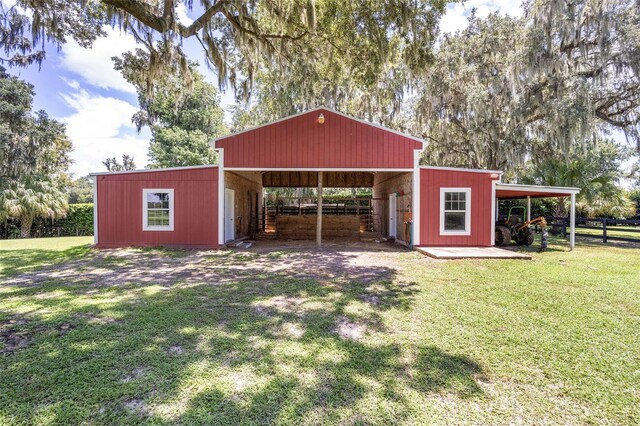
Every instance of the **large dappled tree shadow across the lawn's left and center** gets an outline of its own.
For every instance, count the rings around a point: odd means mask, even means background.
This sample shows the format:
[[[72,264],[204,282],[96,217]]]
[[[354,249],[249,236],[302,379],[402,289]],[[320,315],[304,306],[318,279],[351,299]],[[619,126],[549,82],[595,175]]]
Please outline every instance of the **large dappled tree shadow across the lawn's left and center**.
[[[277,268],[244,255],[231,268],[236,256],[201,256],[189,276],[157,259],[145,282],[78,273],[15,285],[0,327],[30,344],[0,355],[0,418],[391,422],[430,394],[482,396],[473,360],[406,342],[390,323],[418,292],[395,268],[339,252],[287,253]],[[138,266],[112,272],[138,276]]]

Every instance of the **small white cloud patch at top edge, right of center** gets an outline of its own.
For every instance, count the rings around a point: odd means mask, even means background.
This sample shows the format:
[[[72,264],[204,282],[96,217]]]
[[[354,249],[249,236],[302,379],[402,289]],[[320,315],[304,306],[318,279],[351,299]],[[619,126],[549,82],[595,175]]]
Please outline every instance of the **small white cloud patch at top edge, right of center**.
[[[445,34],[467,28],[467,17],[474,8],[476,16],[480,18],[485,18],[492,12],[509,16],[521,16],[523,13],[522,2],[514,0],[469,0],[454,3],[447,6],[446,13],[440,20],[440,31]]]

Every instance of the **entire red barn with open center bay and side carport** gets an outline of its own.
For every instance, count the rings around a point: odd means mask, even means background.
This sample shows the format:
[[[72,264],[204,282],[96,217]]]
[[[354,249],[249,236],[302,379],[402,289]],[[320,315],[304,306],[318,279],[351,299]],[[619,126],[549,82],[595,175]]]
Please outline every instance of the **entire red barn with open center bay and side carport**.
[[[421,166],[425,141],[327,108],[212,145],[217,165],[93,174],[96,245],[217,248],[248,236],[373,235],[488,247],[498,199],[569,196],[573,206],[577,193],[504,184],[497,170]],[[288,189],[267,198],[265,188]],[[372,196],[325,197],[326,188],[369,188]]]

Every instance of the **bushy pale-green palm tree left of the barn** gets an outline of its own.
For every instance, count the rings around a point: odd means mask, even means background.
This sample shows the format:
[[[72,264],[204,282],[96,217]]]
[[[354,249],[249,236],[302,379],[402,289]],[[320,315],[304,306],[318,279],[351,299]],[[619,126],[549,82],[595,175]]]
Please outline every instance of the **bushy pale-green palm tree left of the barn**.
[[[0,191],[0,220],[18,219],[21,238],[31,236],[31,225],[36,217],[64,217],[67,208],[66,195],[50,179],[11,179],[5,182]]]

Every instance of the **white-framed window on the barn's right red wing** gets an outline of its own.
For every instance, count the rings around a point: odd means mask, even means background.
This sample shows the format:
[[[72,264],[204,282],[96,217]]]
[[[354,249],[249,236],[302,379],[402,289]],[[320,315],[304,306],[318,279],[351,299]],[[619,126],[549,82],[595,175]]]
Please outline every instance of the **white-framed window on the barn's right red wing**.
[[[471,188],[440,188],[440,234],[471,234]]]

